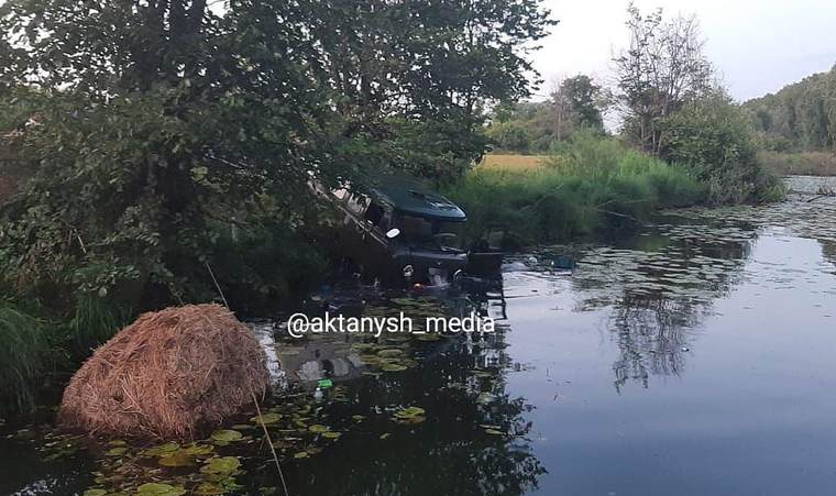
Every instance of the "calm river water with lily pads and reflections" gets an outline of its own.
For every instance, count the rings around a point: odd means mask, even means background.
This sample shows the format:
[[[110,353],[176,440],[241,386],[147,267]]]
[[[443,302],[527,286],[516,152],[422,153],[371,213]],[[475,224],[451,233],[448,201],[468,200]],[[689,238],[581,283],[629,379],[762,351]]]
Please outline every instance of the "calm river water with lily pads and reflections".
[[[836,198],[815,192],[836,181],[788,181],[801,194],[783,203],[671,211],[616,244],[514,256],[501,287],[317,298],[376,316],[477,309],[498,329],[279,339],[277,383],[304,379],[267,407],[289,494],[835,494]],[[0,494],[283,494],[246,421],[195,470],[160,467],[147,447],[56,452],[65,438],[8,428]],[[242,466],[195,475],[220,455]]]

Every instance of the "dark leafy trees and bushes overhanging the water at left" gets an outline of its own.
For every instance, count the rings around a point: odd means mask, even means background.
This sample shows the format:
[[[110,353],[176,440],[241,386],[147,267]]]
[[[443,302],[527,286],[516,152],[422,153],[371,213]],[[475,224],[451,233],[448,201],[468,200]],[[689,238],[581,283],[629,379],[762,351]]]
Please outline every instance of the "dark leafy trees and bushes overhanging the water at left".
[[[311,174],[458,178],[552,23],[532,0],[2,3],[0,344],[38,360],[2,359],[30,370],[0,405],[213,279],[235,310],[317,284]]]

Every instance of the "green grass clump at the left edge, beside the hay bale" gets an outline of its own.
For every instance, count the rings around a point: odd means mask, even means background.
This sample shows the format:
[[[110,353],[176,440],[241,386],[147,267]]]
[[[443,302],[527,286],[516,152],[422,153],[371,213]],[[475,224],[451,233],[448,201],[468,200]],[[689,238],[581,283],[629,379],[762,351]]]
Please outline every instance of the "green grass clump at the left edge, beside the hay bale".
[[[0,411],[34,408],[48,348],[43,322],[0,301]]]

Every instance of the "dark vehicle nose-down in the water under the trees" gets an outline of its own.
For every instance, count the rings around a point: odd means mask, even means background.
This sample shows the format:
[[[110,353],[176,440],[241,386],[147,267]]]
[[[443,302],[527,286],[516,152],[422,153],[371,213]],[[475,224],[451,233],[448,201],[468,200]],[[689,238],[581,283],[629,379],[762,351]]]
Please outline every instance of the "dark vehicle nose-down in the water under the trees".
[[[364,190],[317,189],[337,209],[333,242],[348,272],[387,285],[443,284],[475,260],[463,246],[464,211],[415,179],[384,176]],[[502,260],[498,252],[479,255]]]

